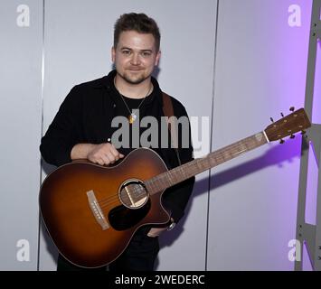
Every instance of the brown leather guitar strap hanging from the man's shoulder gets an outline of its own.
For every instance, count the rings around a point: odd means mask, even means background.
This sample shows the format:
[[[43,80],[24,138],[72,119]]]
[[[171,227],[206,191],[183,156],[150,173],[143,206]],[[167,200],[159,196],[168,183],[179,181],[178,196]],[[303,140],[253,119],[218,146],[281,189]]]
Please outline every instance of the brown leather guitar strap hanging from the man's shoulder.
[[[163,92],[163,112],[166,117],[166,122],[168,126],[168,131],[171,135],[172,147],[175,149],[175,154],[177,156],[177,161],[179,165],[182,165],[181,158],[178,152],[178,134],[175,126],[174,108],[171,97]]]

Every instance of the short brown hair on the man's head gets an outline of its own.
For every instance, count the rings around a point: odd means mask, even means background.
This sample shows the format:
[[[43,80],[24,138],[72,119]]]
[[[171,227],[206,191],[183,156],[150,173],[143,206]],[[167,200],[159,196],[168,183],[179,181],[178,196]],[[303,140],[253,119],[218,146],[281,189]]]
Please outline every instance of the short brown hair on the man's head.
[[[136,31],[137,33],[151,33],[155,38],[156,51],[159,51],[160,33],[156,21],[146,14],[122,14],[115,23],[114,48],[117,47],[119,35],[125,31]]]

